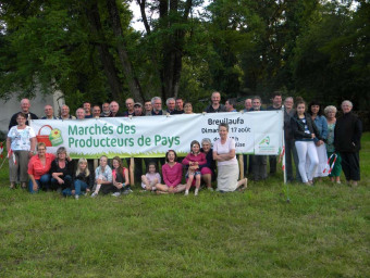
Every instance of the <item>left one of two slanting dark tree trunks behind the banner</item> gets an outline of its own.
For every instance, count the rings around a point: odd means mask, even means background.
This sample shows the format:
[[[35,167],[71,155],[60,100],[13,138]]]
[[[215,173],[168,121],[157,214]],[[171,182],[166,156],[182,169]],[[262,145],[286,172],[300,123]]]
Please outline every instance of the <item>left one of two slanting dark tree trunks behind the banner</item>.
[[[94,43],[97,45],[100,61],[112,91],[112,97],[114,100],[120,101],[123,88],[118,71],[114,66],[113,56],[109,52],[108,45],[106,43],[107,39],[102,33],[99,9],[96,0],[89,2],[89,5],[86,9],[86,14],[90,23]]]

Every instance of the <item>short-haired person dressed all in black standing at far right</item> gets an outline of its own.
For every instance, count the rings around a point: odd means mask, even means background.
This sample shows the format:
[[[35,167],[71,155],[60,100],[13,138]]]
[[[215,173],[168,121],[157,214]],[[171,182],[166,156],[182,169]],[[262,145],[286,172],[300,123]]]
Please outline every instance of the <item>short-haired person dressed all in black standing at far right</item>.
[[[341,154],[342,168],[347,184],[357,186],[360,180],[360,156],[362,123],[351,110],[349,100],[342,102],[343,116],[336,119],[334,128],[335,151]]]

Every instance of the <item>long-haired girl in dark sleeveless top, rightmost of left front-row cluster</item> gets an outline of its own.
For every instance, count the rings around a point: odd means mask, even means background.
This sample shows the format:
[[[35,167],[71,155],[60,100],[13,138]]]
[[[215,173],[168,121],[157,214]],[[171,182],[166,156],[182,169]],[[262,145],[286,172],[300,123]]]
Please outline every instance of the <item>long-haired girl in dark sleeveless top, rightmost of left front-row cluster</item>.
[[[112,195],[119,197],[121,192],[123,194],[132,192],[130,188],[128,169],[123,167],[122,160],[119,156],[113,157],[112,168],[113,186],[118,189]]]

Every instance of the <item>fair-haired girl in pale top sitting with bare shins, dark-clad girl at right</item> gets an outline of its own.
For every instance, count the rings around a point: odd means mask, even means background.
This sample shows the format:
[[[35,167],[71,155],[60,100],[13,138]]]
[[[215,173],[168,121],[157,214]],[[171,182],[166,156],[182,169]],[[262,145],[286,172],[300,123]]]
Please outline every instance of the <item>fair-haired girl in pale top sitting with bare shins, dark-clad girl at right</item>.
[[[99,166],[95,169],[95,182],[96,187],[91,198],[99,194],[100,188],[103,194],[116,191],[116,188],[112,184],[112,169],[108,166],[108,157],[106,155],[100,156]]]

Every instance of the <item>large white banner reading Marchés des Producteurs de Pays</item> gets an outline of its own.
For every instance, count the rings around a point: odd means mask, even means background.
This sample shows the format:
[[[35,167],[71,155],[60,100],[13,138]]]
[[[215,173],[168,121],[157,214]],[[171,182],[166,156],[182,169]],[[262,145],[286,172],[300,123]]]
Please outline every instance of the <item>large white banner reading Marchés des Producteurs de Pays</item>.
[[[226,122],[237,153],[278,154],[282,147],[283,112],[182,114],[171,116],[112,117],[88,119],[35,119],[38,142],[55,152],[65,147],[73,159],[84,156],[160,157],[168,150],[180,156],[190,151],[190,142],[219,139],[218,126]]]

